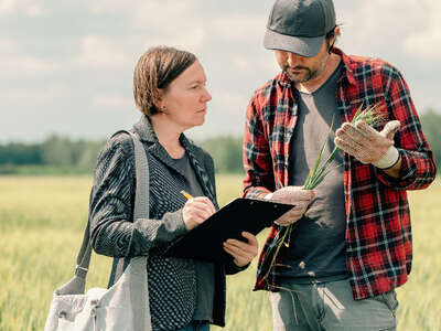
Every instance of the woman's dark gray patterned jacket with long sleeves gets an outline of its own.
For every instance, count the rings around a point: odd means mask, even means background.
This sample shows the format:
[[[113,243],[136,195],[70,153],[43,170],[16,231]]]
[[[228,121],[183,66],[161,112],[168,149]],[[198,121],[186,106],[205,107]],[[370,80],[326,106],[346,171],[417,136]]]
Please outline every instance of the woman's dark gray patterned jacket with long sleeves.
[[[114,257],[109,287],[120,277],[130,257],[146,255],[150,312],[153,330],[176,330],[187,324],[196,302],[196,276],[192,259],[170,258],[162,254],[170,242],[186,233],[182,217],[185,197],[180,194],[184,174],[159,143],[147,116],[133,126],[148,152],[150,172],[150,218],[133,222],[136,175],[133,142],[118,134],[98,156],[90,194],[90,239],[96,253]],[[184,135],[180,141],[191,160],[196,178],[215,206],[213,159],[191,143]],[[216,265],[214,323],[225,324],[225,274],[243,268]]]

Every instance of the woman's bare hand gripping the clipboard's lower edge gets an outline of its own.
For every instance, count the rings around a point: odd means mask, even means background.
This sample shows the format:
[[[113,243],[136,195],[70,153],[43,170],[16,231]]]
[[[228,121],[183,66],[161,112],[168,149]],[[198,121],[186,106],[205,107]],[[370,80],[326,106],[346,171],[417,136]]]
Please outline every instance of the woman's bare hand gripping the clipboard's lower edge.
[[[227,239],[224,243],[224,250],[234,257],[234,263],[238,267],[249,264],[259,250],[259,244],[255,235],[245,231],[241,235],[247,239],[246,243],[237,239]]]

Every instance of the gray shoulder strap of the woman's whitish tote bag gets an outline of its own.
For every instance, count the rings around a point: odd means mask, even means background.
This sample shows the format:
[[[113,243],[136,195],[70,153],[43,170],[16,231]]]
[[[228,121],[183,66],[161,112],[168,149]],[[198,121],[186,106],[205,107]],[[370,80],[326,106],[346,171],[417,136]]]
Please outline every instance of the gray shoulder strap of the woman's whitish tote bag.
[[[136,134],[127,130],[120,130],[114,134],[128,134],[133,140],[135,147],[135,167],[136,167],[136,194],[135,194],[135,209],[133,222],[138,218],[149,218],[149,163],[147,161],[147,153]],[[84,293],[86,286],[87,271],[90,264],[92,245],[90,245],[90,220],[87,221],[86,229],[84,231],[83,243],[76,258],[75,276],[66,285],[56,289],[57,295],[66,292]],[[146,258],[144,258],[146,259]],[[138,264],[138,263],[137,263]],[[146,265],[146,264],[144,264]]]

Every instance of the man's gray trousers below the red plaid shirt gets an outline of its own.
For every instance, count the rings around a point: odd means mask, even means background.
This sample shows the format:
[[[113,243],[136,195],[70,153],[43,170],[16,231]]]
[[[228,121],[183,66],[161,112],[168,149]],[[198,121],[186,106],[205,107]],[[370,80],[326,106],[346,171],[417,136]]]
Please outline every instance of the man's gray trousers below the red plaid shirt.
[[[397,330],[395,291],[354,300],[349,281],[283,284],[270,292],[273,331]]]

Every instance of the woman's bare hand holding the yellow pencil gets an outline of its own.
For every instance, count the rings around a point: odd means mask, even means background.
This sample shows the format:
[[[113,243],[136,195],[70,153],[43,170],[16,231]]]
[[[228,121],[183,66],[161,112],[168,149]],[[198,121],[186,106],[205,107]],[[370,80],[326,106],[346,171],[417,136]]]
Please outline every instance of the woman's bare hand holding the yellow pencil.
[[[183,210],[182,216],[186,229],[193,229],[216,212],[212,201],[206,196],[190,199]]]

